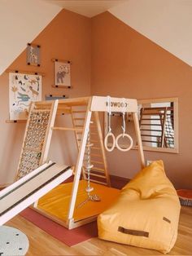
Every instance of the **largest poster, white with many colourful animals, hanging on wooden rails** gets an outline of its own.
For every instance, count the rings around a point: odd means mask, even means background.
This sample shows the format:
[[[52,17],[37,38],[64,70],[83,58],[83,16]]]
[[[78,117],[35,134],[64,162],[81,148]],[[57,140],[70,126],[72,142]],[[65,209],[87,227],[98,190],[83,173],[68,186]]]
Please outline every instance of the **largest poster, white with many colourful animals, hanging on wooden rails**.
[[[31,101],[41,101],[41,76],[9,73],[10,120],[26,120]]]

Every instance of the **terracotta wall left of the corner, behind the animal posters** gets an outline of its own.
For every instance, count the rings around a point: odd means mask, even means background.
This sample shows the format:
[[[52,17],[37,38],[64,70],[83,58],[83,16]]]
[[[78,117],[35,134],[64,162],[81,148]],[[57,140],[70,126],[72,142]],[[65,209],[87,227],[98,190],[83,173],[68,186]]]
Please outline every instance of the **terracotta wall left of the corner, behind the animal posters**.
[[[46,94],[66,94],[69,97],[85,96],[90,94],[90,20],[82,15],[70,11],[61,11],[59,15],[35,38],[33,43],[41,45],[41,67],[27,66],[26,52],[24,51],[9,68],[22,71],[36,71],[45,73],[42,80],[42,96]],[[54,64],[52,58],[72,61],[72,90],[55,89]],[[8,73],[0,76],[0,184],[12,181],[18,165],[24,124],[7,124],[8,109]],[[67,143],[66,143],[67,142]],[[50,159],[63,162],[64,153],[71,151],[76,154],[70,139],[60,140],[55,135],[51,144]],[[67,162],[74,161],[68,157]]]

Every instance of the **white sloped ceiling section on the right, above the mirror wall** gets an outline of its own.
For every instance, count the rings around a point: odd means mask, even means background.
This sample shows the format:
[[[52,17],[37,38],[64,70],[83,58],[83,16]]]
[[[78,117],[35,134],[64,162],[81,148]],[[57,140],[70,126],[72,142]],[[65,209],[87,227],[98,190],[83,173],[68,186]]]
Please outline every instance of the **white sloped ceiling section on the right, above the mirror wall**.
[[[191,0],[129,0],[109,11],[192,66]]]

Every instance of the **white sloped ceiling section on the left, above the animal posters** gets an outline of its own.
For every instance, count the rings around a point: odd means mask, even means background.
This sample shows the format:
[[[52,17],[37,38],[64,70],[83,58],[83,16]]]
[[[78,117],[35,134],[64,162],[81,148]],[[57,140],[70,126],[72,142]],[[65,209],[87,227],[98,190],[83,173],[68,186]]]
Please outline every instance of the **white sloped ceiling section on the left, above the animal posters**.
[[[0,1],[0,75],[61,9],[41,0]]]

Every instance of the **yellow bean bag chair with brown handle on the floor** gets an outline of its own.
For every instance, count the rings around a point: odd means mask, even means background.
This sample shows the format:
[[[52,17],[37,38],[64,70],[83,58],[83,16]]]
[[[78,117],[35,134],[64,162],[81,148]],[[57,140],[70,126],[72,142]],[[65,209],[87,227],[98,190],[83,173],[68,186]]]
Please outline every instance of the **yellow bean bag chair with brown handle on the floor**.
[[[98,237],[168,253],[177,240],[180,202],[163,161],[141,170],[98,216]]]

